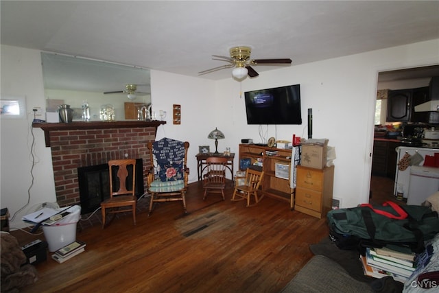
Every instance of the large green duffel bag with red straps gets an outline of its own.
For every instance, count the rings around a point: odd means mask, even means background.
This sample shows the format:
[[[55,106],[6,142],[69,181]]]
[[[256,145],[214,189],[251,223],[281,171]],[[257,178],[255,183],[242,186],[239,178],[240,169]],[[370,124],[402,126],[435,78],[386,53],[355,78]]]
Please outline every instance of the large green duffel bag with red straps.
[[[439,218],[429,207],[384,202],[382,206],[361,204],[350,209],[334,209],[327,214],[330,236],[342,249],[359,246],[409,247],[424,250],[424,242],[439,233]]]

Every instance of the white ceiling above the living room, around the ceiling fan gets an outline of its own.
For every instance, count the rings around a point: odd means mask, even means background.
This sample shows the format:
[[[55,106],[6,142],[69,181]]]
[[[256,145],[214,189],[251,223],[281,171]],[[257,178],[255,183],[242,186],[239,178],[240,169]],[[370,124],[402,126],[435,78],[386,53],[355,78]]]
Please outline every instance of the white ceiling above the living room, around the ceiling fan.
[[[191,76],[234,45],[294,66],[436,38],[439,1],[1,1],[2,44]]]

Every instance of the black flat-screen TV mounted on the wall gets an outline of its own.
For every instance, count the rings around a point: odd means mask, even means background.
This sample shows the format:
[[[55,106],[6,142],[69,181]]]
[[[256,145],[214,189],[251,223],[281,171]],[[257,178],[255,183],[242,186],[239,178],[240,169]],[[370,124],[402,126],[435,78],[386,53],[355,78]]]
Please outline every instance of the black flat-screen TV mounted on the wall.
[[[247,124],[302,124],[300,84],[247,91]]]

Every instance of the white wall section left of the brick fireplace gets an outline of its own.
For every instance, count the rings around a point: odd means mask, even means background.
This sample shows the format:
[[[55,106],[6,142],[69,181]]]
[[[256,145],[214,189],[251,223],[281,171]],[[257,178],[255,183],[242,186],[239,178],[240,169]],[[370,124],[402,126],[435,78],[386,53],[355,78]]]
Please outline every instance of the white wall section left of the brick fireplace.
[[[56,201],[50,149],[45,147],[43,131],[31,128],[32,108],[45,108],[43,72],[40,51],[1,45],[0,53],[1,97],[26,98],[25,119],[0,119],[0,204],[8,207],[11,217],[23,208],[10,223],[22,227],[21,217],[34,211],[36,204]]]

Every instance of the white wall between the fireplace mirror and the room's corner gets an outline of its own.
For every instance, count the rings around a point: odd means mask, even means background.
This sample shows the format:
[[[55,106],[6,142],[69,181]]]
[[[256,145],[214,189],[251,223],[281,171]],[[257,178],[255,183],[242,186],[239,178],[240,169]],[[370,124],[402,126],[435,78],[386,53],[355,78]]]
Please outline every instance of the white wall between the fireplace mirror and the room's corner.
[[[189,141],[187,165],[189,182],[198,180],[197,161],[198,145],[210,145],[215,149],[213,141],[207,139],[211,130],[215,129],[215,82],[201,80],[185,75],[151,71],[152,108],[165,110],[166,124],[159,126],[156,139],[169,137],[180,141]],[[181,124],[172,123],[172,106],[181,106]]]

